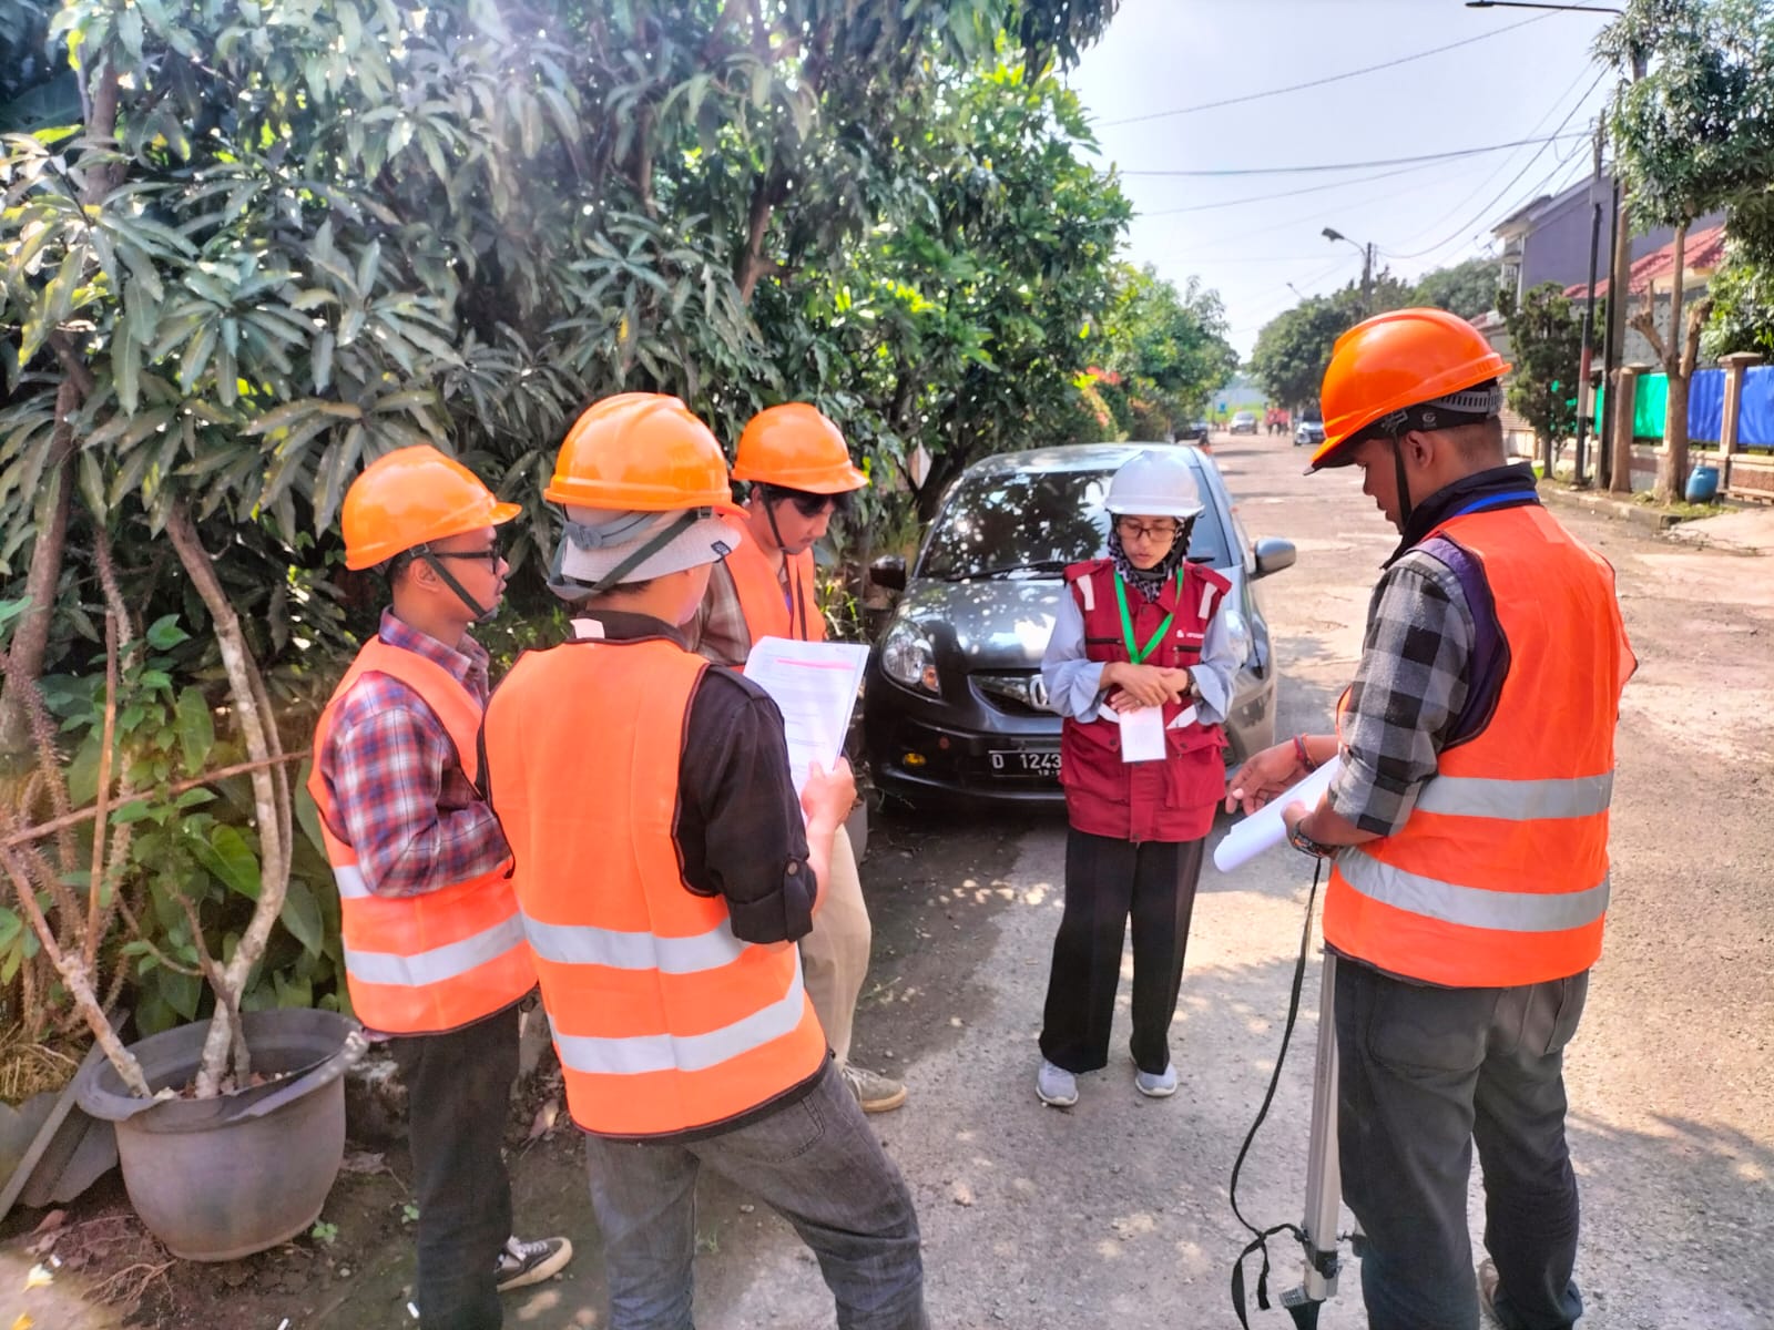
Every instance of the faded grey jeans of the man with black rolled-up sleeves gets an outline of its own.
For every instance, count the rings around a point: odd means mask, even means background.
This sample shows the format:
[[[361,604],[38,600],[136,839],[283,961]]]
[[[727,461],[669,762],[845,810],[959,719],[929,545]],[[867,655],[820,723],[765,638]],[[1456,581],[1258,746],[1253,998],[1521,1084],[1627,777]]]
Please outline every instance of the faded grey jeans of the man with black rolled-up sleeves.
[[[832,1062],[797,1103],[685,1144],[585,1137],[610,1330],[692,1330],[695,1176],[757,1195],[820,1257],[839,1330],[928,1330],[912,1193]]]

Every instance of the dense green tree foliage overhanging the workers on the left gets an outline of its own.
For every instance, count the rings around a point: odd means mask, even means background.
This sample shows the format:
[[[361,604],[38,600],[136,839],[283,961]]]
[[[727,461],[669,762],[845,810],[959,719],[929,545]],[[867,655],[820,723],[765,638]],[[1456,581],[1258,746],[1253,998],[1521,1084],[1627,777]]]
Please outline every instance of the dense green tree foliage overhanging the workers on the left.
[[[169,897],[183,931],[147,938],[176,961],[154,1020],[190,1016],[202,940],[247,1005],[332,979],[284,759],[373,631],[334,523],[374,456],[431,440],[527,505],[495,630],[518,640],[545,631],[541,482],[594,397],[672,392],[724,438],[814,401],[891,521],[988,450],[1096,436],[1091,364],[1155,413],[1212,387],[1219,301],[1116,264],[1130,209],[1056,74],[1114,9],[0,0],[0,603],[25,681],[0,720],[41,683],[75,699],[57,743],[103,748],[114,548],[124,617],[192,631],[154,706],[208,706],[216,761],[252,768],[216,786],[216,862],[273,897],[243,917],[225,876],[186,874],[195,922]],[[130,715],[122,770],[165,786],[167,727]]]

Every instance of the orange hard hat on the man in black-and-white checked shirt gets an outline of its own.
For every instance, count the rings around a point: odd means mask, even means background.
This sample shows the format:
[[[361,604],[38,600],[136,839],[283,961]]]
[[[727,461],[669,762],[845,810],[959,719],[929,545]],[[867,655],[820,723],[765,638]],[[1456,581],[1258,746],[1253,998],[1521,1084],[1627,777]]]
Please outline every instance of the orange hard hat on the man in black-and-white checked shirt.
[[[1458,314],[1442,309],[1375,314],[1336,339],[1318,394],[1325,442],[1307,470],[1346,466],[1348,445],[1368,426],[1508,371],[1485,335]]]

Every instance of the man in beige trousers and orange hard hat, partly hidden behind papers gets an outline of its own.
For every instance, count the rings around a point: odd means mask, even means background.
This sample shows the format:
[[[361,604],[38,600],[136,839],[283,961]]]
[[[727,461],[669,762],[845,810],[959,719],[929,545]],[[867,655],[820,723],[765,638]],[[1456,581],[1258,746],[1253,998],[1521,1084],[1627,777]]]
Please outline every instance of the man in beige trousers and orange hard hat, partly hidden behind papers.
[[[825,638],[814,599],[812,544],[869,477],[850,461],[843,433],[816,406],[784,403],[752,417],[740,434],[733,479],[750,484],[736,548],[708,578],[690,647],[717,665],[745,669],[752,642]],[[905,1103],[905,1085],[850,1060],[857,998],[869,972],[873,929],[850,835],[837,832],[825,903],[802,938],[807,995],[832,1041],[844,1084],[866,1112]]]

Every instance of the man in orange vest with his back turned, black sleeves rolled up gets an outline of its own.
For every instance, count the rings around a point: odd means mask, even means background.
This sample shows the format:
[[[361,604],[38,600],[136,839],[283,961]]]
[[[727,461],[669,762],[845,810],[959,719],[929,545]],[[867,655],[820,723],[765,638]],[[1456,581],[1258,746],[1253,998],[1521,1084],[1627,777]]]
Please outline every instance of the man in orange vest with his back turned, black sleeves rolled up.
[[[797,798],[782,715],[683,645],[740,543],[727,465],[676,397],[623,394],[561,445],[555,594],[481,727],[543,1005],[585,1131],[612,1330],[690,1325],[695,1177],[757,1193],[816,1252],[843,1330],[924,1330],[917,1215],[802,984],[843,761]]]

